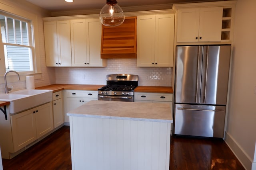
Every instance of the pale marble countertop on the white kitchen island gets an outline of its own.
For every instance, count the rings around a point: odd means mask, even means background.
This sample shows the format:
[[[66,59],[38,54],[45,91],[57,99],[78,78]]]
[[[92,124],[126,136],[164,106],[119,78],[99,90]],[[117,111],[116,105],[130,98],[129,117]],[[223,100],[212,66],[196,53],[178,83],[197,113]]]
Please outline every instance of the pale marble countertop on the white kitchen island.
[[[92,100],[67,113],[68,116],[172,123],[169,104]]]

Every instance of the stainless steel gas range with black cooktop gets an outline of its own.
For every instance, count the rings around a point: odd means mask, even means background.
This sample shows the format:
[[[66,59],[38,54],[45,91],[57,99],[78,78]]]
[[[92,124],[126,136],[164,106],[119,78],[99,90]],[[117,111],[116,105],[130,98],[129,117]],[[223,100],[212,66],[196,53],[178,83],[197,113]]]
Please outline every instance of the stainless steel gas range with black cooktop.
[[[133,74],[108,74],[107,85],[98,89],[98,100],[134,102],[134,88],[138,76]]]

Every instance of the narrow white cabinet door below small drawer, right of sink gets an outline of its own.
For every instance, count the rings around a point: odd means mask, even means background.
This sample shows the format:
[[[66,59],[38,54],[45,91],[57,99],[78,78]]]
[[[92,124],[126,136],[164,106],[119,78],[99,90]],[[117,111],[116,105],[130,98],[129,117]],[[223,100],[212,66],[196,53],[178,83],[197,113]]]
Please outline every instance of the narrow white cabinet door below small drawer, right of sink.
[[[63,106],[62,106],[62,99],[54,100],[52,102],[53,107],[53,121],[54,121],[54,128],[62,125],[63,123]]]

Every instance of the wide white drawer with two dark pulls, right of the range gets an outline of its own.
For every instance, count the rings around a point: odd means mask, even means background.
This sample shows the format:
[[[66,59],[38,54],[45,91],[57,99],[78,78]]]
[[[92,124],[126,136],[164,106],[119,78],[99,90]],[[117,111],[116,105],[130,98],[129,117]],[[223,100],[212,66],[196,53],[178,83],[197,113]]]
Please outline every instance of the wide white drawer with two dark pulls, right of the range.
[[[172,94],[168,93],[135,93],[134,100],[152,100],[172,102]]]

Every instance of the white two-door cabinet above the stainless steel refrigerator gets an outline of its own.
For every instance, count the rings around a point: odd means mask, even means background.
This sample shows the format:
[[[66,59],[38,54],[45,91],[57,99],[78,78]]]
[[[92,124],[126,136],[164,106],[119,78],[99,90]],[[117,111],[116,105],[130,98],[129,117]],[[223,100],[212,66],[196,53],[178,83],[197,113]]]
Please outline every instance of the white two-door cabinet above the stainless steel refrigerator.
[[[178,9],[177,42],[220,42],[222,12],[222,7]]]

